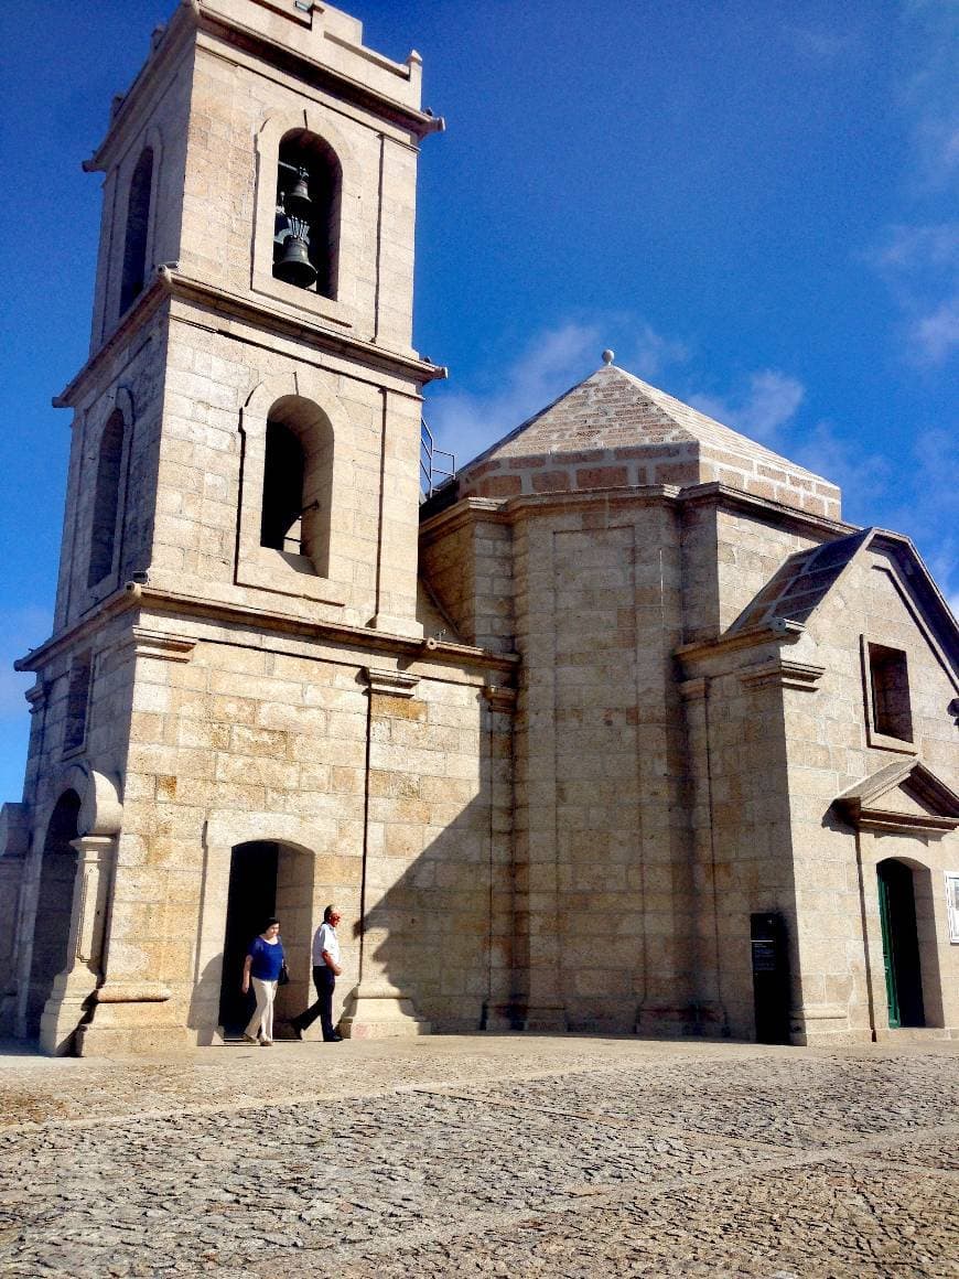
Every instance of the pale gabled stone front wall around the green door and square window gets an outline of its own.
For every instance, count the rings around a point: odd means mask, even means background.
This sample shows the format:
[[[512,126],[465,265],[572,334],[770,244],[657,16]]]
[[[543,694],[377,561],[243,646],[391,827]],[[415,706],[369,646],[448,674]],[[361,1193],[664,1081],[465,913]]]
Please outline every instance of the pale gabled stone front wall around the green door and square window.
[[[807,1000],[834,1010],[818,1027],[822,1033],[868,1035],[871,1004],[877,1032],[887,1033],[876,883],[876,863],[886,857],[913,866],[917,898],[926,899],[919,925],[927,1023],[959,1024],[959,946],[949,943],[942,877],[959,866],[959,839],[867,831],[857,836],[830,811],[838,794],[896,760],[921,760],[947,785],[959,784],[955,724],[947,710],[955,687],[922,636],[908,597],[908,582],[885,555],[869,550],[850,565],[804,641],[808,660],[825,666],[821,688],[786,721],[803,987]],[[861,637],[907,654],[912,746],[869,744]],[[935,989],[942,990],[944,1001],[931,998]]]

